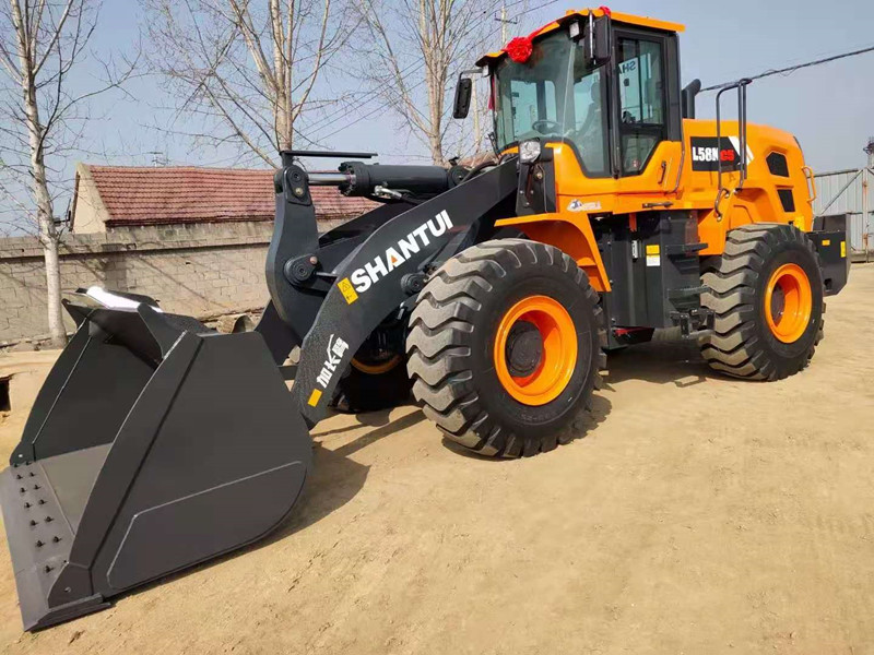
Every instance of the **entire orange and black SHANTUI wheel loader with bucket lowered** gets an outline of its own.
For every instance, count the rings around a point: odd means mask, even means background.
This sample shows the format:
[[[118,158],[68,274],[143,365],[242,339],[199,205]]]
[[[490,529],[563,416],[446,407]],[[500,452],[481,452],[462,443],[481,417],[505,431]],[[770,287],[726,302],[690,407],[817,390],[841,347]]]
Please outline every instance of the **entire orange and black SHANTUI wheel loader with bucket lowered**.
[[[68,298],[78,332],[0,474],[24,628],[270,533],[332,403],[403,402],[412,385],[448,439],[518,457],[579,437],[605,353],[656,330],[697,340],[720,373],[805,368],[847,282],[846,221],[814,217],[791,134],[747,123],[749,80],[695,118],[682,31],[571,11],[486,55],[495,155],[476,166],[283,153],[251,332],[145,296]],[[456,118],[471,85],[463,73]],[[304,155],[343,162],[308,172]],[[314,186],[380,204],[319,235]]]

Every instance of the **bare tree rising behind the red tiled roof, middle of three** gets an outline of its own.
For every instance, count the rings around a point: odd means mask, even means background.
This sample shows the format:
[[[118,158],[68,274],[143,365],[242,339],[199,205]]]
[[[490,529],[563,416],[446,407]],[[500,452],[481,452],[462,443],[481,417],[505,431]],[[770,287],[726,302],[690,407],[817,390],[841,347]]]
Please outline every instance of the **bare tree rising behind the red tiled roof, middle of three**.
[[[234,143],[273,166],[305,112],[332,102],[317,95],[351,33],[345,0],[142,1],[151,62],[170,82],[185,134]]]

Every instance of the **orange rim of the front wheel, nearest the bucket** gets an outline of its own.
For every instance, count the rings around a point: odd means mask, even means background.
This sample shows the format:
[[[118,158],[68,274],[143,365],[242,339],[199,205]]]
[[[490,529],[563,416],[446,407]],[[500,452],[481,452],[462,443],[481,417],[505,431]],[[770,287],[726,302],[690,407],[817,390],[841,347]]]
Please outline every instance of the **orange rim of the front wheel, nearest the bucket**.
[[[540,333],[542,350],[533,372],[513,376],[507,346],[513,325],[524,321]],[[498,324],[495,370],[507,393],[524,405],[545,405],[565,390],[577,366],[577,331],[564,306],[548,296],[530,296],[513,305]]]

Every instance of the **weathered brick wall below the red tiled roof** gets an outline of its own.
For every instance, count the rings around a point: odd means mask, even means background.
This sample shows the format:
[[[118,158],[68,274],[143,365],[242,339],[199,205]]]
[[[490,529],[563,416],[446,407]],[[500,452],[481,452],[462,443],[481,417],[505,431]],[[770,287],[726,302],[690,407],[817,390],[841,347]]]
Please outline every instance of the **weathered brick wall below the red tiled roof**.
[[[61,286],[145,294],[167,311],[194,317],[261,308],[272,229],[272,222],[217,223],[69,235],[61,247]],[[29,237],[0,239],[0,345],[47,332],[39,245]]]

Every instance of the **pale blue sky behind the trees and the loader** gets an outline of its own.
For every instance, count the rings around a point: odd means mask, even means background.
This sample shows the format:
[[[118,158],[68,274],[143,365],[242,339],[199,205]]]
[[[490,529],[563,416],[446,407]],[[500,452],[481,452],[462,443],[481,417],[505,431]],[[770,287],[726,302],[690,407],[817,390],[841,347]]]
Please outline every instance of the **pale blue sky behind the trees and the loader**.
[[[508,0],[510,4],[513,0]],[[548,7],[542,5],[547,4]],[[580,5],[566,0],[553,2],[515,2],[513,15],[530,11],[510,36],[525,34],[538,23]],[[700,78],[705,86],[768,69],[782,68],[845,50],[874,45],[874,2],[871,0],[734,0],[730,3],[663,0],[627,0],[611,9],[651,15],[684,23],[681,58],[684,84]],[[99,28],[93,41],[98,57],[129,50],[141,31],[141,11],[133,0],[105,0]],[[484,33],[494,32],[494,16],[484,16]],[[499,46],[497,36],[483,44],[483,51]],[[471,53],[471,63],[476,59]],[[96,71],[96,66],[95,66]],[[88,71],[80,71],[88,74]],[[335,87],[354,90],[354,81],[334,82]],[[105,97],[95,110],[103,118],[88,129],[91,153],[83,159],[114,164],[149,165],[160,151],[173,164],[223,165],[232,151],[193,152],[179,139],[168,139],[149,126],[164,124],[170,112],[162,106],[162,82],[137,80],[129,87],[135,100]],[[807,163],[817,170],[848,168],[864,162],[862,147],[874,135],[874,52],[853,59],[798,71],[788,76],[772,76],[749,87],[749,120],[793,132],[801,141]],[[732,105],[727,102],[727,106]],[[699,117],[712,116],[713,94],[699,96]],[[333,123],[346,122],[369,114],[377,103],[365,104]],[[330,110],[329,110],[330,111]],[[342,115],[341,115],[342,116]],[[400,122],[383,112],[361,120],[354,128],[332,134],[319,133],[328,146],[343,150],[376,150],[382,162],[402,162],[403,153],[424,155],[415,141],[403,135]],[[421,159],[417,159],[421,162]],[[72,177],[72,168],[70,168]]]

